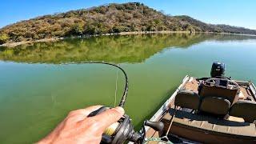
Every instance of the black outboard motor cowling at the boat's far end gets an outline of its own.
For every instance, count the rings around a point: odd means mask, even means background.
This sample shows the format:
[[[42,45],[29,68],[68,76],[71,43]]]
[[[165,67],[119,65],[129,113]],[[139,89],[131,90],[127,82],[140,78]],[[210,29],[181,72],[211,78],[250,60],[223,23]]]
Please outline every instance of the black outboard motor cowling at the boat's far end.
[[[224,75],[225,75],[225,64],[222,62],[214,62],[210,70],[211,78],[224,77]]]

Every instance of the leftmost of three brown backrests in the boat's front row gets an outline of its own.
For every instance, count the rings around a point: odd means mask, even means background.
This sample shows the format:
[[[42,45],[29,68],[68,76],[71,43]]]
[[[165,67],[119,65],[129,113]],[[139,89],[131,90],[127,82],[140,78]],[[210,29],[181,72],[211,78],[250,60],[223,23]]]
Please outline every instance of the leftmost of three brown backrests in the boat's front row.
[[[174,101],[175,106],[198,110],[200,97],[197,93],[189,90],[179,90]]]

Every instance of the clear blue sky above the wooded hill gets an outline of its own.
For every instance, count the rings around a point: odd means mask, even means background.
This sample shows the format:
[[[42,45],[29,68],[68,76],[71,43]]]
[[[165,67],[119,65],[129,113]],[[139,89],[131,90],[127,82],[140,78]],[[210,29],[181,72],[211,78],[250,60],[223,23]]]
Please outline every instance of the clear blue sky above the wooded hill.
[[[2,0],[0,27],[44,14],[78,10],[106,3],[142,2],[171,15],[189,15],[202,22],[256,30],[256,0]]]

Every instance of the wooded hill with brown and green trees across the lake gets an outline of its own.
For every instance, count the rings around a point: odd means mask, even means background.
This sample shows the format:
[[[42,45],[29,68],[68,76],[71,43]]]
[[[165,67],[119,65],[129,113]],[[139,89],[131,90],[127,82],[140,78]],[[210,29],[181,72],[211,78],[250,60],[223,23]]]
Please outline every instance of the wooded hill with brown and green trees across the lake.
[[[129,2],[71,10],[17,22],[0,29],[0,44],[83,34],[162,30],[256,34],[256,30],[206,24],[189,16],[170,16],[142,3]]]

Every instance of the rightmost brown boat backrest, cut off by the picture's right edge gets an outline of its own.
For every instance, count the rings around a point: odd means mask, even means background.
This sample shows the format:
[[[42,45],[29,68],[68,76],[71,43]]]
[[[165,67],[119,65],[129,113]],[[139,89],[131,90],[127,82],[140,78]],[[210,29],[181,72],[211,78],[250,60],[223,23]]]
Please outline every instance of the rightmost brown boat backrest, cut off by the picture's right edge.
[[[231,106],[230,115],[252,123],[256,120],[256,102],[238,101]]]

